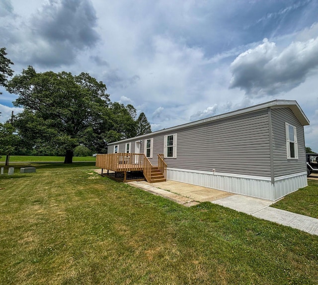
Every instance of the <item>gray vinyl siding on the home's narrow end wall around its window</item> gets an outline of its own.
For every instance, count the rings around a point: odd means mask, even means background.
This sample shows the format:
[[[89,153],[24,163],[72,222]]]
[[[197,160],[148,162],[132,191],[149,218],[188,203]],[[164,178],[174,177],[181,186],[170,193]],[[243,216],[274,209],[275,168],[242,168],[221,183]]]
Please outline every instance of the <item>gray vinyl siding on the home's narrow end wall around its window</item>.
[[[306,172],[304,127],[289,108],[271,109],[274,176]],[[287,159],[285,123],[297,130],[298,159]]]

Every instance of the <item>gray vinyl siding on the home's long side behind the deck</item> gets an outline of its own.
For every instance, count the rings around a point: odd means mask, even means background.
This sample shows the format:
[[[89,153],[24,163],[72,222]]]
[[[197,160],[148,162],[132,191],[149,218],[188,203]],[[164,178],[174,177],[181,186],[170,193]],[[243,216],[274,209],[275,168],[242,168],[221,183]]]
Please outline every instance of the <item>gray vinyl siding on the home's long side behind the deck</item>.
[[[177,157],[164,159],[168,167],[270,177],[267,109],[149,134],[142,138],[140,152],[144,152],[145,140],[153,138],[153,158],[149,160],[157,165],[157,154],[163,153],[164,136],[173,134],[177,134]],[[124,152],[128,142],[134,152],[137,140],[118,143],[120,152]],[[114,144],[109,145],[109,153],[113,152]]]

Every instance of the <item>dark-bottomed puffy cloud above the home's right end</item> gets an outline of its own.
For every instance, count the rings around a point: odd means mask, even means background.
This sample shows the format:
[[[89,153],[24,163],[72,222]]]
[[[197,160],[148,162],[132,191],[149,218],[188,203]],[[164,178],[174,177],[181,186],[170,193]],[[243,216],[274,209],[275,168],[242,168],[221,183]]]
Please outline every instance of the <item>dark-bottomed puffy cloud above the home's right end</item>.
[[[231,64],[230,88],[239,87],[247,96],[261,97],[289,91],[318,68],[318,38],[293,42],[279,51],[264,39],[254,49],[240,54]]]

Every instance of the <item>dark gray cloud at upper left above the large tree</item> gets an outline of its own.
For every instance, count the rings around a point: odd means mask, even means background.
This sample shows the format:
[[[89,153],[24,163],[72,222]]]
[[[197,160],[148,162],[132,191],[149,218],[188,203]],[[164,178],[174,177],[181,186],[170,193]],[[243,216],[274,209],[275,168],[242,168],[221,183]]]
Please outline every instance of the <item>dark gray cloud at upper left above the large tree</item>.
[[[24,64],[56,67],[73,64],[79,51],[93,47],[99,35],[90,0],[49,0],[22,25],[27,44]]]

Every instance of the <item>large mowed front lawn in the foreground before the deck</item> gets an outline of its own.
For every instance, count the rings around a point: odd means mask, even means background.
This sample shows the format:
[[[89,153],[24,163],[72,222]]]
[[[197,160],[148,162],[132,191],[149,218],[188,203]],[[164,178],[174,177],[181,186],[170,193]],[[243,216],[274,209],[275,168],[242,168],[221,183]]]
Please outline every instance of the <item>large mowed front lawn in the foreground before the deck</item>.
[[[36,166],[0,176],[0,284],[318,284],[318,236]]]

